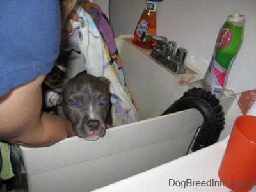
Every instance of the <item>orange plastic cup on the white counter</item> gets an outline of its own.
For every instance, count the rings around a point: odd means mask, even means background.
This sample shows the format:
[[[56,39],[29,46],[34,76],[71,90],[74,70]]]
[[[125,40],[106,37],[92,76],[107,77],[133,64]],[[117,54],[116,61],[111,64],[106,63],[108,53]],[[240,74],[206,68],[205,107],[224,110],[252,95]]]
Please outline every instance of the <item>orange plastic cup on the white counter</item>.
[[[256,116],[236,118],[218,174],[234,191],[250,191],[256,184]]]

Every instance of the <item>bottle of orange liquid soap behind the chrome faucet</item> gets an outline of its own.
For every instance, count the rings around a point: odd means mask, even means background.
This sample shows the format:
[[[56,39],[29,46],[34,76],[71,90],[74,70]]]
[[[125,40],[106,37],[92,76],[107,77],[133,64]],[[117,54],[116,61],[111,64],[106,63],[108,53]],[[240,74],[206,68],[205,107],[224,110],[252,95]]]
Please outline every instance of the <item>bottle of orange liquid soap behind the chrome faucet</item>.
[[[145,43],[140,40],[143,32],[148,32],[156,35],[156,10],[159,2],[163,0],[146,0],[145,9],[141,14],[140,20],[134,31],[132,42],[144,49],[153,49],[155,47],[155,40]]]

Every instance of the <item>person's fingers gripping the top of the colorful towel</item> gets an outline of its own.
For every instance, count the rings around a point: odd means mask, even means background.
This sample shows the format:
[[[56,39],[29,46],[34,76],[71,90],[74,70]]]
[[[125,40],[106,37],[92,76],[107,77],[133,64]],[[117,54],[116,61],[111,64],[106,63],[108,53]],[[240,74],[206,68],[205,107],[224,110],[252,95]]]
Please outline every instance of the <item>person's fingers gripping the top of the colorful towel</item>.
[[[88,13],[88,15],[90,15],[90,17],[92,17],[93,20],[100,20],[99,17],[97,17],[97,15],[94,15],[89,12],[90,9],[95,9],[95,10],[100,9],[100,6],[98,4],[84,2],[83,4],[81,4],[81,7],[86,11],[86,13]],[[63,6],[61,9],[63,12],[65,12],[66,7]],[[72,24],[71,24],[72,21],[75,21],[75,22],[79,21],[79,17],[75,10],[71,10],[71,12],[68,14],[66,21],[62,26],[61,39],[65,39],[74,33],[74,29],[72,28]]]

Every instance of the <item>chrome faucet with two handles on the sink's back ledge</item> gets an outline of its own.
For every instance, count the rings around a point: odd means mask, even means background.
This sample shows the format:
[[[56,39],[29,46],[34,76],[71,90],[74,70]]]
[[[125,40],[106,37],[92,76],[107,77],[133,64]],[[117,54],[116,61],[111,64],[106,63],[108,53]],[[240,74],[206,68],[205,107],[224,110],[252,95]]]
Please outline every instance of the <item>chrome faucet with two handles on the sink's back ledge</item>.
[[[141,41],[143,42],[149,42],[150,39],[156,40],[156,46],[150,53],[150,56],[175,72],[175,74],[186,73],[185,61],[188,55],[186,49],[180,47],[175,54],[177,45],[175,42],[168,41],[164,36],[156,36],[147,32],[141,35]]]

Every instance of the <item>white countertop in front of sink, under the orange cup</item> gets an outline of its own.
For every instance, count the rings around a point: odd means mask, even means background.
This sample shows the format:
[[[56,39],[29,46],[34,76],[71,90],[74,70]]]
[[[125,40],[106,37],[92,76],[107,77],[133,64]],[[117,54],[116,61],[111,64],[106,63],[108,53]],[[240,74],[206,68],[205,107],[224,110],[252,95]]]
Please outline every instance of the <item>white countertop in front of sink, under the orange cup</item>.
[[[95,191],[231,191],[218,177],[228,138]]]

